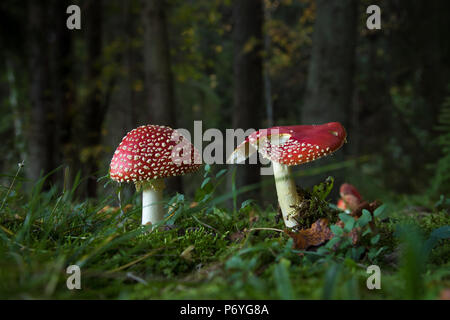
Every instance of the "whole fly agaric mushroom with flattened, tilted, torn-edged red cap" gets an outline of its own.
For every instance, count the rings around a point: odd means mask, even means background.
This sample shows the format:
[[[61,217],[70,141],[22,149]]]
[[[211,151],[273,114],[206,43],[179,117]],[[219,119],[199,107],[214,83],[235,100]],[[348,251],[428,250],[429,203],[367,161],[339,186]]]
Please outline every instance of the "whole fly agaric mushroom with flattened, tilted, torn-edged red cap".
[[[249,135],[228,158],[228,163],[239,163],[259,153],[272,161],[278,203],[288,228],[298,223],[295,205],[300,203],[291,166],[311,162],[338,150],[346,141],[347,133],[339,122],[322,125],[272,127]]]

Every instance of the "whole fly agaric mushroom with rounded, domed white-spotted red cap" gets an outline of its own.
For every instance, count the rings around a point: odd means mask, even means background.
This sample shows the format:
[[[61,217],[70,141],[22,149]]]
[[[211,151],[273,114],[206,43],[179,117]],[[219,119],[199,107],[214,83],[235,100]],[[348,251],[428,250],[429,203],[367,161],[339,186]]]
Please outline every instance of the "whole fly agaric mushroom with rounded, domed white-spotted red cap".
[[[147,125],[127,133],[114,152],[111,179],[134,182],[142,189],[142,224],[155,224],[164,218],[162,191],[164,178],[180,176],[200,168],[199,153],[176,130]],[[189,157],[179,157],[180,152]]]

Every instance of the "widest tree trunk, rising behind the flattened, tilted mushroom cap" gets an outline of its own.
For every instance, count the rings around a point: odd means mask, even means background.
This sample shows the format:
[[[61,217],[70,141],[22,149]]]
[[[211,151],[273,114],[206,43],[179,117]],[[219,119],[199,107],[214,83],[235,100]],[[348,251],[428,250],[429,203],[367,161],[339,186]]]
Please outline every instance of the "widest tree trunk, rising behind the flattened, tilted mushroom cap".
[[[353,89],[355,0],[317,0],[302,122],[348,124]]]

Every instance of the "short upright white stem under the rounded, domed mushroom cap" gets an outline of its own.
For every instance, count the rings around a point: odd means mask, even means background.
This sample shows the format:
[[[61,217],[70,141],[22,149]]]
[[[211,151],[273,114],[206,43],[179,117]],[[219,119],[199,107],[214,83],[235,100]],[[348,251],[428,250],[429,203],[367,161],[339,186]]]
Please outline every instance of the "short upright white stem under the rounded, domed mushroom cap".
[[[162,179],[142,185],[142,225],[154,225],[164,219],[163,190]]]

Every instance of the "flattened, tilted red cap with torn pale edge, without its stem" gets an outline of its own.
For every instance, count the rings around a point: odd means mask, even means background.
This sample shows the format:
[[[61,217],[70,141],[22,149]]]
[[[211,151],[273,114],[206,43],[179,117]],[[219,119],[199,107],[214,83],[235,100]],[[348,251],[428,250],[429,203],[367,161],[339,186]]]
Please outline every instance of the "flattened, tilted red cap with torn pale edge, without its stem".
[[[259,152],[273,162],[288,166],[311,162],[338,150],[347,133],[339,122],[322,125],[272,127],[249,135],[231,155],[237,163]]]

